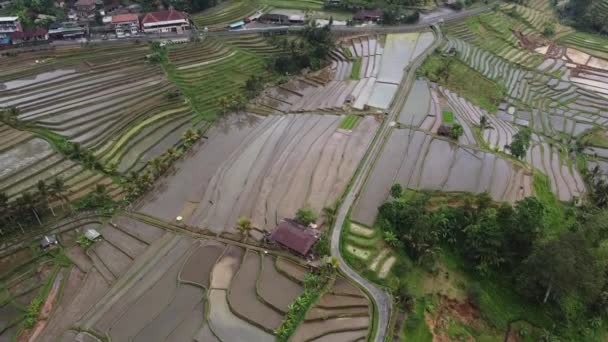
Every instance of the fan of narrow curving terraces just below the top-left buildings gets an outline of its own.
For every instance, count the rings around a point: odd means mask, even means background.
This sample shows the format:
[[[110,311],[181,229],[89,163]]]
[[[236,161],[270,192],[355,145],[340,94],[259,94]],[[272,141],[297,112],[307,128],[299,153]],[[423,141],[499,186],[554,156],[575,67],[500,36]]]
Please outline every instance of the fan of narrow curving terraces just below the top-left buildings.
[[[179,142],[192,110],[182,97],[167,96],[177,88],[159,65],[145,62],[148,45],[120,47],[128,52],[103,45],[71,50],[68,57],[61,50],[44,71],[17,69],[0,87],[0,102],[17,107],[20,120],[80,144],[119,172],[141,169]]]

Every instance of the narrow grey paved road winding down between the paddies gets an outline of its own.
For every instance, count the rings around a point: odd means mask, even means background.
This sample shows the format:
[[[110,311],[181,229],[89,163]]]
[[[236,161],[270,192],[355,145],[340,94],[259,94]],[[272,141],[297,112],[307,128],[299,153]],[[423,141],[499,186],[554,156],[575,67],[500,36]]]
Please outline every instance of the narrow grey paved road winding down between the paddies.
[[[406,75],[401,82],[400,88],[397,91],[397,98],[394,100],[393,105],[389,111],[388,117],[384,125],[382,125],[381,131],[378,133],[378,137],[369,148],[369,153],[365,156],[363,160],[363,164],[361,165],[361,169],[359,173],[356,175],[356,178],[353,182],[353,185],[346,195],[342,205],[338,210],[338,214],[336,216],[336,222],[331,235],[331,254],[338,259],[338,264],[340,270],[345,273],[349,278],[357,282],[363,288],[367,290],[367,292],[371,295],[374,303],[377,308],[378,315],[378,329],[376,331],[376,336],[374,340],[377,342],[385,341],[388,337],[388,327],[391,319],[391,311],[392,311],[392,298],[391,296],[384,290],[378,288],[373,283],[368,281],[367,279],[360,276],[356,271],[350,268],[342,258],[340,254],[340,234],[342,234],[342,226],[344,225],[344,220],[346,219],[346,215],[353,205],[357,195],[361,191],[363,184],[365,183],[365,179],[367,174],[372,170],[374,160],[376,156],[382,151],[382,146],[384,145],[384,141],[390,132],[389,123],[394,121],[399,114],[401,107],[404,105],[405,100],[407,98],[407,94],[415,80],[416,69],[422,64],[424,59],[428,54],[433,52],[441,43],[443,36],[441,34],[441,30],[435,26],[436,32],[436,40],[435,42],[416,60],[414,60],[410,65],[406,68]],[[401,94],[401,95],[399,95]]]

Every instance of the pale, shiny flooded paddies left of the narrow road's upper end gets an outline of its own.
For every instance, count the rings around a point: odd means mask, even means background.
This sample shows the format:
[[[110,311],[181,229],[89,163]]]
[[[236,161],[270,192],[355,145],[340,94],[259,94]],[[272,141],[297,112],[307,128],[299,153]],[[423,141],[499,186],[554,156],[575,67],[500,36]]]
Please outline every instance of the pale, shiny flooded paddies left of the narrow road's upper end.
[[[327,68],[268,89],[256,99],[256,112],[387,109],[410,60],[433,42],[430,32],[361,36],[333,51]]]

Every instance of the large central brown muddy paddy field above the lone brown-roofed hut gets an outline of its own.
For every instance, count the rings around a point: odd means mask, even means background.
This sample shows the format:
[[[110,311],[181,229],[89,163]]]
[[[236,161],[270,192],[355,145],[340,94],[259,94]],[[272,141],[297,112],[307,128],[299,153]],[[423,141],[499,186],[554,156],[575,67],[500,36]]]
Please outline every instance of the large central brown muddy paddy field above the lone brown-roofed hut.
[[[352,130],[344,115],[233,115],[162,179],[138,210],[215,232],[241,216],[272,229],[298,208],[320,212],[344,191],[379,122],[362,117]]]

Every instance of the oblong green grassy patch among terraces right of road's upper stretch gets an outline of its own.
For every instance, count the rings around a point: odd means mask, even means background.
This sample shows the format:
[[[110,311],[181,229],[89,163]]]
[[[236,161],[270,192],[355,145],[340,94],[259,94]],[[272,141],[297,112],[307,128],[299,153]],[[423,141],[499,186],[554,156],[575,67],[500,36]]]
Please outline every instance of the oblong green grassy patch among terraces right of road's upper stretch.
[[[469,68],[456,57],[430,55],[418,69],[420,75],[449,88],[477,106],[496,112],[505,89]]]

